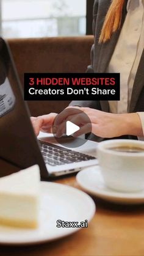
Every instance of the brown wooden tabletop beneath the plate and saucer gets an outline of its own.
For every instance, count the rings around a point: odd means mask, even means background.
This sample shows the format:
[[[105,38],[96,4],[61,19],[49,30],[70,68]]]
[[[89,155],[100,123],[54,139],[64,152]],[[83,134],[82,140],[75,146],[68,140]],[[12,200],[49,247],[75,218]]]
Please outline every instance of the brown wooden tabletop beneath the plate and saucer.
[[[8,169],[8,167],[7,167]],[[1,164],[2,170],[2,164]],[[79,188],[76,178],[56,181]],[[99,199],[88,229],[52,243],[29,247],[0,246],[1,256],[143,256],[144,205],[118,206]]]

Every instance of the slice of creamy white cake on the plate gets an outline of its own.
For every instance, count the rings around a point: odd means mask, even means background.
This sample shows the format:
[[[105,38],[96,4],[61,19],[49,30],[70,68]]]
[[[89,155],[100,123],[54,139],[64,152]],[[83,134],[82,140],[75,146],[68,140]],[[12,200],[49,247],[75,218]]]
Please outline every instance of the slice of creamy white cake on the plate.
[[[0,225],[38,226],[40,169],[32,166],[0,178]]]

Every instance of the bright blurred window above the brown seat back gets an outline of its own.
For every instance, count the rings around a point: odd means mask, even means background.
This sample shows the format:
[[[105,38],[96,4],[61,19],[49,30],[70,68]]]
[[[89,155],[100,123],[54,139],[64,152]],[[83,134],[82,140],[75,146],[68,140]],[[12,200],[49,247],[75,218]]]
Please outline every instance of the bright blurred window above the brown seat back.
[[[0,0],[5,38],[92,34],[94,0]]]

